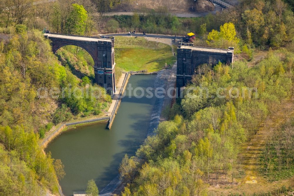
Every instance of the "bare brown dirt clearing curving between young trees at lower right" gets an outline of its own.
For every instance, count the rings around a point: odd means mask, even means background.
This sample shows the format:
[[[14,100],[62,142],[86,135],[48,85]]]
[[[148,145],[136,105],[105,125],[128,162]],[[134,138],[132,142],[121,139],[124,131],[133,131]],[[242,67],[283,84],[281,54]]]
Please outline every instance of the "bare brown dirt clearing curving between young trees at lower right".
[[[265,120],[264,127],[260,127],[257,134],[253,135],[251,140],[245,142],[241,147],[238,162],[240,168],[244,170],[245,176],[241,179],[236,179],[238,182],[237,185],[211,186],[209,190],[213,195],[228,195],[230,193],[242,194],[243,192],[246,195],[251,195],[255,192],[272,191],[280,188],[282,185],[288,187],[290,183],[293,185],[293,178],[277,182],[267,182],[258,172],[260,167],[259,157],[262,156],[265,140],[271,131],[285,122],[285,118],[289,118],[294,114],[293,100],[292,97],[290,100],[280,104],[280,107],[274,113],[273,117]]]

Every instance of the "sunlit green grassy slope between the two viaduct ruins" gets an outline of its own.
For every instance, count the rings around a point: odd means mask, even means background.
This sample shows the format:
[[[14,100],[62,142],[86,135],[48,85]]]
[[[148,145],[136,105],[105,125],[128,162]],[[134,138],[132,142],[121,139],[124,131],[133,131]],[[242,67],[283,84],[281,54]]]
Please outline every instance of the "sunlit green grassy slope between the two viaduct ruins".
[[[147,41],[143,37],[115,37],[116,66],[125,71],[148,72],[163,69],[165,63],[174,64],[176,58],[171,52],[171,46],[155,41]]]

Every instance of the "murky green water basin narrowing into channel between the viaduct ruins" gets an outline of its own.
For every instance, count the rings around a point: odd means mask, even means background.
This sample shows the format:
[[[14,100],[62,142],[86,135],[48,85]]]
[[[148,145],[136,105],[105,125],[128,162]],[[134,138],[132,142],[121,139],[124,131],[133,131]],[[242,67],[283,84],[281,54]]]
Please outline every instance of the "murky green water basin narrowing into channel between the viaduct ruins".
[[[146,89],[153,87],[155,79],[156,75],[132,75],[128,85]],[[134,155],[143,143],[156,97],[146,98],[145,93],[144,97],[136,98],[133,91],[130,97],[129,94],[126,89],[111,130],[106,129],[105,123],[87,124],[63,132],[48,144],[45,151],[64,164],[66,175],[60,180],[64,195],[84,191],[91,179],[101,191],[118,175],[123,156]]]

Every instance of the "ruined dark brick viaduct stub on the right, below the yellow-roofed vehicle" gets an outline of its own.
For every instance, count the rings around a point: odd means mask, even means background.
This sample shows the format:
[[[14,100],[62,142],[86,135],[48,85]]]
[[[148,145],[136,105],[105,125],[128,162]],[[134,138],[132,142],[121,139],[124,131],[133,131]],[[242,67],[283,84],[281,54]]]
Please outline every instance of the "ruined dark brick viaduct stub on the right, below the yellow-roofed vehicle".
[[[191,82],[192,76],[201,64],[209,61],[213,63],[230,64],[234,61],[234,48],[219,49],[194,46],[193,43],[180,43],[177,49],[177,88],[180,93],[181,87]]]

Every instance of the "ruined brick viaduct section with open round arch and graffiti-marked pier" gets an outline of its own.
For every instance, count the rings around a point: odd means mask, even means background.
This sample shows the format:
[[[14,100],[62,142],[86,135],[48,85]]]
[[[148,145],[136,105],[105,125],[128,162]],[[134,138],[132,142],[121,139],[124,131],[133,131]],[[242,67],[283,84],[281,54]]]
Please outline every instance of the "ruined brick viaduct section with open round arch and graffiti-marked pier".
[[[79,46],[85,49],[94,60],[95,83],[104,87],[106,92],[113,96],[115,86],[114,37],[87,37],[45,33],[51,40],[52,51],[66,45]]]

